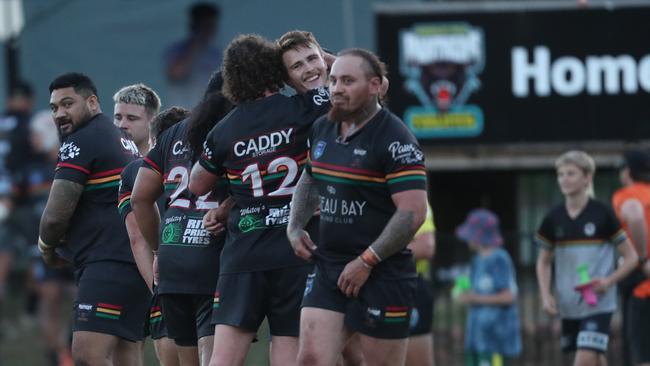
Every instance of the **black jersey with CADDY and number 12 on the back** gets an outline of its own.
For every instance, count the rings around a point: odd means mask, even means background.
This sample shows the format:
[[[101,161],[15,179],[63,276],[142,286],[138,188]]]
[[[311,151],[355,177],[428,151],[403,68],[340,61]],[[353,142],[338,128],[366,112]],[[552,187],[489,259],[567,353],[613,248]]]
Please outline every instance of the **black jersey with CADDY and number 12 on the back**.
[[[208,134],[199,162],[226,175],[235,200],[221,273],[305,264],[287,240],[289,202],[307,163],[309,130],[329,106],[326,89],[275,94],[238,105]]]

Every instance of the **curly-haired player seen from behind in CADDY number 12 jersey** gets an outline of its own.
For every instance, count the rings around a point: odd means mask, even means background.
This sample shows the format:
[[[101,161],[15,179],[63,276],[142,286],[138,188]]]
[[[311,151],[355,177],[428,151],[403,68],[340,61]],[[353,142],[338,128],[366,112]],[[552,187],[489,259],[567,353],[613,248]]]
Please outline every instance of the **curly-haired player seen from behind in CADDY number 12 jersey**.
[[[228,46],[224,94],[237,107],[210,132],[190,189],[202,194],[226,174],[235,206],[228,218],[213,322],[211,365],[242,365],[262,320],[269,320],[271,364],[295,362],[300,297],[307,263],[284,235],[294,184],[306,163],[313,120],[327,91],[286,97],[277,47],[244,35]],[[313,212],[312,212],[313,213]],[[310,214],[311,216],[311,214]]]

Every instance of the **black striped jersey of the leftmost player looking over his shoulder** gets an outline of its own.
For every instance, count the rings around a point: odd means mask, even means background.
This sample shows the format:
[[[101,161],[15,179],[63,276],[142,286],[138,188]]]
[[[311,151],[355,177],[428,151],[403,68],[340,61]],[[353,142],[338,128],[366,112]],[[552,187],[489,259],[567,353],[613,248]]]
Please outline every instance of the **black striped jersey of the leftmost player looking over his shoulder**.
[[[75,268],[100,261],[134,263],[116,205],[120,173],[137,151],[101,113],[63,139],[54,179],[85,187],[61,249]]]

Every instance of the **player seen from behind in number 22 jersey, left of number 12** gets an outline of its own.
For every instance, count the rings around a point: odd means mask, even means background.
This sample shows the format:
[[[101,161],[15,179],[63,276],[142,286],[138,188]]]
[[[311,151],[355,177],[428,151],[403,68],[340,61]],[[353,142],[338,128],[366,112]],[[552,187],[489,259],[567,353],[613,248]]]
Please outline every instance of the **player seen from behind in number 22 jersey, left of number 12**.
[[[138,171],[131,198],[143,236],[153,250],[158,250],[158,293],[168,335],[178,346],[182,365],[205,365],[212,352],[214,328],[210,319],[224,235],[208,233],[202,219],[205,212],[224,200],[226,187],[196,196],[187,185],[196,161],[190,148],[194,133],[207,133],[229,110],[226,104],[208,103],[214,102],[213,94],[219,94],[219,85],[215,74],[197,113],[160,136]],[[217,113],[206,114],[205,108]],[[214,119],[206,118],[208,115]],[[166,199],[162,217],[155,209],[161,196]]]

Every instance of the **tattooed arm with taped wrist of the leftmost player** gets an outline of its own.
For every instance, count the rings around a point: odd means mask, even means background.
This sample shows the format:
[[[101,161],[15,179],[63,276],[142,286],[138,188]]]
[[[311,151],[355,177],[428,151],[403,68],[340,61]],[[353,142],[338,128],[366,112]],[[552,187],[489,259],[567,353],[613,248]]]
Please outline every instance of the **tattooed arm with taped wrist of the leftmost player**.
[[[43,260],[50,265],[61,265],[62,259],[54,249],[63,245],[70,219],[77,208],[84,186],[68,180],[55,179],[47,199],[39,227],[38,247]]]

